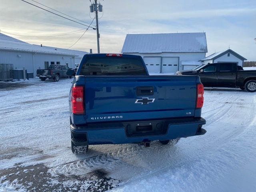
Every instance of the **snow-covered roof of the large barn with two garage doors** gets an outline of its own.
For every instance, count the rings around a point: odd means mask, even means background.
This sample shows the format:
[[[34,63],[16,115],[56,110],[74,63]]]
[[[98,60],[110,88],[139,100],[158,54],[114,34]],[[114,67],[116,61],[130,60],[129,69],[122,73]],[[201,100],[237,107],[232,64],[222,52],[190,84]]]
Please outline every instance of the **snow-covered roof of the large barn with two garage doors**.
[[[205,33],[127,34],[122,53],[207,52]]]

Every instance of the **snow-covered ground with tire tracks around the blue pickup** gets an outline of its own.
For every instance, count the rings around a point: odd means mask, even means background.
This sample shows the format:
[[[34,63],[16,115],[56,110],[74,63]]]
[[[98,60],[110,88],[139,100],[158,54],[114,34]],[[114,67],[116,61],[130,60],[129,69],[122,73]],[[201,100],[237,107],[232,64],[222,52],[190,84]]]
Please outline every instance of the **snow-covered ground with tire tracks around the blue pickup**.
[[[206,88],[203,136],[70,149],[70,79],[0,82],[0,192],[254,192],[256,93]]]

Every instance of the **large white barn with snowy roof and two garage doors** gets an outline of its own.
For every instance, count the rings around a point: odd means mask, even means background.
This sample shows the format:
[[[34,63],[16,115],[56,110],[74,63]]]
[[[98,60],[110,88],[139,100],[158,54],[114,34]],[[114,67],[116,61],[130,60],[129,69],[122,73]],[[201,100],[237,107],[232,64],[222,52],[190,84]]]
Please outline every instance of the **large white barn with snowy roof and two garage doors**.
[[[205,33],[127,34],[123,54],[140,55],[150,73],[198,66],[207,52]]]

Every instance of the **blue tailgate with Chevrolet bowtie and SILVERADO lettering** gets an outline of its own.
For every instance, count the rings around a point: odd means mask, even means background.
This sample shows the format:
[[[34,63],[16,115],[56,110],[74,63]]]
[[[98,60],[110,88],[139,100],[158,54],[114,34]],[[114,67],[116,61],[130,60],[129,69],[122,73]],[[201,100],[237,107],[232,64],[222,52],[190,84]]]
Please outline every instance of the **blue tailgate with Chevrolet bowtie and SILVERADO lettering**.
[[[86,122],[192,117],[197,76],[85,76]]]

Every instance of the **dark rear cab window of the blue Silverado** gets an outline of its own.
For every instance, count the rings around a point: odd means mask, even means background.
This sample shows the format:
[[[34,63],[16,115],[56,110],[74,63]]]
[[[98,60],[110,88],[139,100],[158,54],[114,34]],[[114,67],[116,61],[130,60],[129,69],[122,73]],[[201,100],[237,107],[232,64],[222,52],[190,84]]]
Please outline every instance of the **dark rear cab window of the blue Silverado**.
[[[80,75],[147,75],[140,58],[88,57]]]

